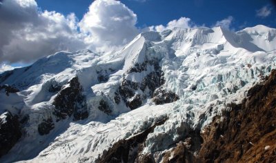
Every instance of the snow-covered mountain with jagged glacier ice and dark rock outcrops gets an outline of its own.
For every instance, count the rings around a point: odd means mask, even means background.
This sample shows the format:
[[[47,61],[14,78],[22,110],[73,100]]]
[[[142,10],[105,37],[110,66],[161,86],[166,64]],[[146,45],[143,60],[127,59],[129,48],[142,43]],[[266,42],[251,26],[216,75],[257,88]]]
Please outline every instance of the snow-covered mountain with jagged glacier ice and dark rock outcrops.
[[[123,161],[161,162],[275,62],[266,26],[174,28],[117,52],[57,52],[0,75],[0,162],[111,162],[103,157],[122,144]]]

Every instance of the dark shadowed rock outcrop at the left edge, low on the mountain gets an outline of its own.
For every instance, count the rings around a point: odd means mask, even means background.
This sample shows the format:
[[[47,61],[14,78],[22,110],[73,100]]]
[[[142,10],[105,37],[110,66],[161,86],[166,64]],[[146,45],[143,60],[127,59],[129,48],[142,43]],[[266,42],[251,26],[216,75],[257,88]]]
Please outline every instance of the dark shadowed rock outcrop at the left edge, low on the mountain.
[[[6,111],[0,119],[0,157],[10,151],[12,146],[17,143],[21,137],[21,126],[17,115],[12,115]]]

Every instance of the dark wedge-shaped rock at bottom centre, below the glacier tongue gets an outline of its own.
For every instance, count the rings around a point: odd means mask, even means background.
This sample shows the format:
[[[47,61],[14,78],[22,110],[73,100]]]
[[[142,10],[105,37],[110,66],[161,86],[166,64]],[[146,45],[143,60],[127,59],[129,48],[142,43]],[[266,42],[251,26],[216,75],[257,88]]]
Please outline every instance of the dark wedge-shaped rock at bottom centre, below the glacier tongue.
[[[108,148],[108,151],[103,151],[103,155],[101,155],[101,157],[99,157],[95,162],[154,162],[151,155],[141,155],[141,150],[144,148],[144,142],[146,141],[148,134],[152,133],[156,126],[164,124],[166,120],[167,118],[164,118],[146,131],[139,133],[128,140],[120,140],[113,144],[112,147]]]

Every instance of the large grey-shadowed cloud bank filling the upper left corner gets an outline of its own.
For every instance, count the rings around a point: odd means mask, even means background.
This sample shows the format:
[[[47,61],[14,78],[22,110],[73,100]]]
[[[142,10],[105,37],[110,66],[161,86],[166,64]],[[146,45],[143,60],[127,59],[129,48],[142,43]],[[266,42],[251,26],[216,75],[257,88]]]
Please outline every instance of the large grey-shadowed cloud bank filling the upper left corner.
[[[42,12],[34,0],[0,3],[0,61],[34,61],[59,50],[85,48],[74,14]]]

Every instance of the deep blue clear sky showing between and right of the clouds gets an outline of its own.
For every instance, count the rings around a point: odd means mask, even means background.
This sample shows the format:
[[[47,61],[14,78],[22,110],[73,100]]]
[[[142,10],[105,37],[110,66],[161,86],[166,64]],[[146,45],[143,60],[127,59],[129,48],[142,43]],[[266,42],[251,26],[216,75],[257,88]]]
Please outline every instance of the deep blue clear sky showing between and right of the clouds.
[[[64,15],[75,12],[81,19],[88,11],[91,0],[37,0],[42,10],[55,10]],[[276,27],[276,12],[270,0],[122,0],[137,14],[137,26],[166,25],[172,19],[189,17],[198,25],[214,26],[219,20],[233,17],[232,28],[239,30],[248,26],[263,24]],[[270,8],[270,15],[257,17],[257,10]]]

